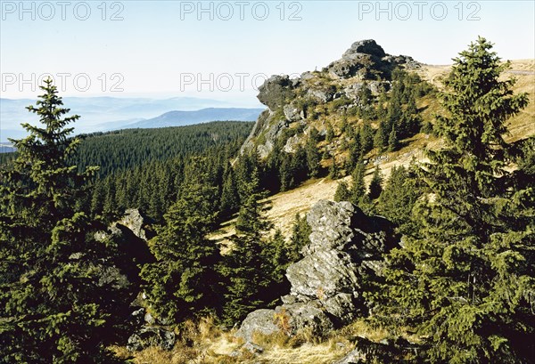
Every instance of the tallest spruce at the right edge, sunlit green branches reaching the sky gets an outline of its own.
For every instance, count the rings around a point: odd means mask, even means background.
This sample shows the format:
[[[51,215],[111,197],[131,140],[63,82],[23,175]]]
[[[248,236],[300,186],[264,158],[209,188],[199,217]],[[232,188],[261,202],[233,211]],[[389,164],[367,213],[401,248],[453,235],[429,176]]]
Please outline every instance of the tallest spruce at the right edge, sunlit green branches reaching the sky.
[[[438,117],[441,150],[418,173],[432,193],[417,231],[388,258],[390,317],[415,328],[430,362],[528,363],[535,351],[535,196],[506,169],[506,120],[527,104],[484,38],[454,60]]]

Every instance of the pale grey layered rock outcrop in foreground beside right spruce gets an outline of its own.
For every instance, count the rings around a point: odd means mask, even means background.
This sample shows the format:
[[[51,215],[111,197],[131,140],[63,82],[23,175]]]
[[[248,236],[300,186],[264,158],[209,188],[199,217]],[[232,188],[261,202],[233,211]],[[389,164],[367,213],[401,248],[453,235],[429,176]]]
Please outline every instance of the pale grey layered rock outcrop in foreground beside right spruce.
[[[292,287],[284,304],[251,312],[236,336],[251,341],[255,331],[292,335],[300,328],[321,335],[369,310],[361,283],[381,274],[383,253],[398,244],[391,222],[366,216],[350,202],[325,200],[312,207],[307,222],[310,244],[286,271]]]

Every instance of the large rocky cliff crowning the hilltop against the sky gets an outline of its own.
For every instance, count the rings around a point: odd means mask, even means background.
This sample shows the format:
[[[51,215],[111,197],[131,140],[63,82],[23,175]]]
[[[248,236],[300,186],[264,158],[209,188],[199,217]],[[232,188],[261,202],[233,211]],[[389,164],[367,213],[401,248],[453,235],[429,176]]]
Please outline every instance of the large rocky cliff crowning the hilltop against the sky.
[[[268,107],[258,118],[241,152],[257,150],[260,158],[268,157],[277,138],[285,129],[319,125],[325,129],[325,110],[342,114],[351,107],[366,108],[359,91],[366,87],[374,94],[388,92],[391,72],[396,67],[416,69],[420,64],[407,56],[392,56],[374,40],[355,42],[321,71],[305,72],[297,78],[270,77],[259,87],[258,99]],[[299,142],[299,135],[288,143]],[[284,147],[292,152],[291,145]]]

